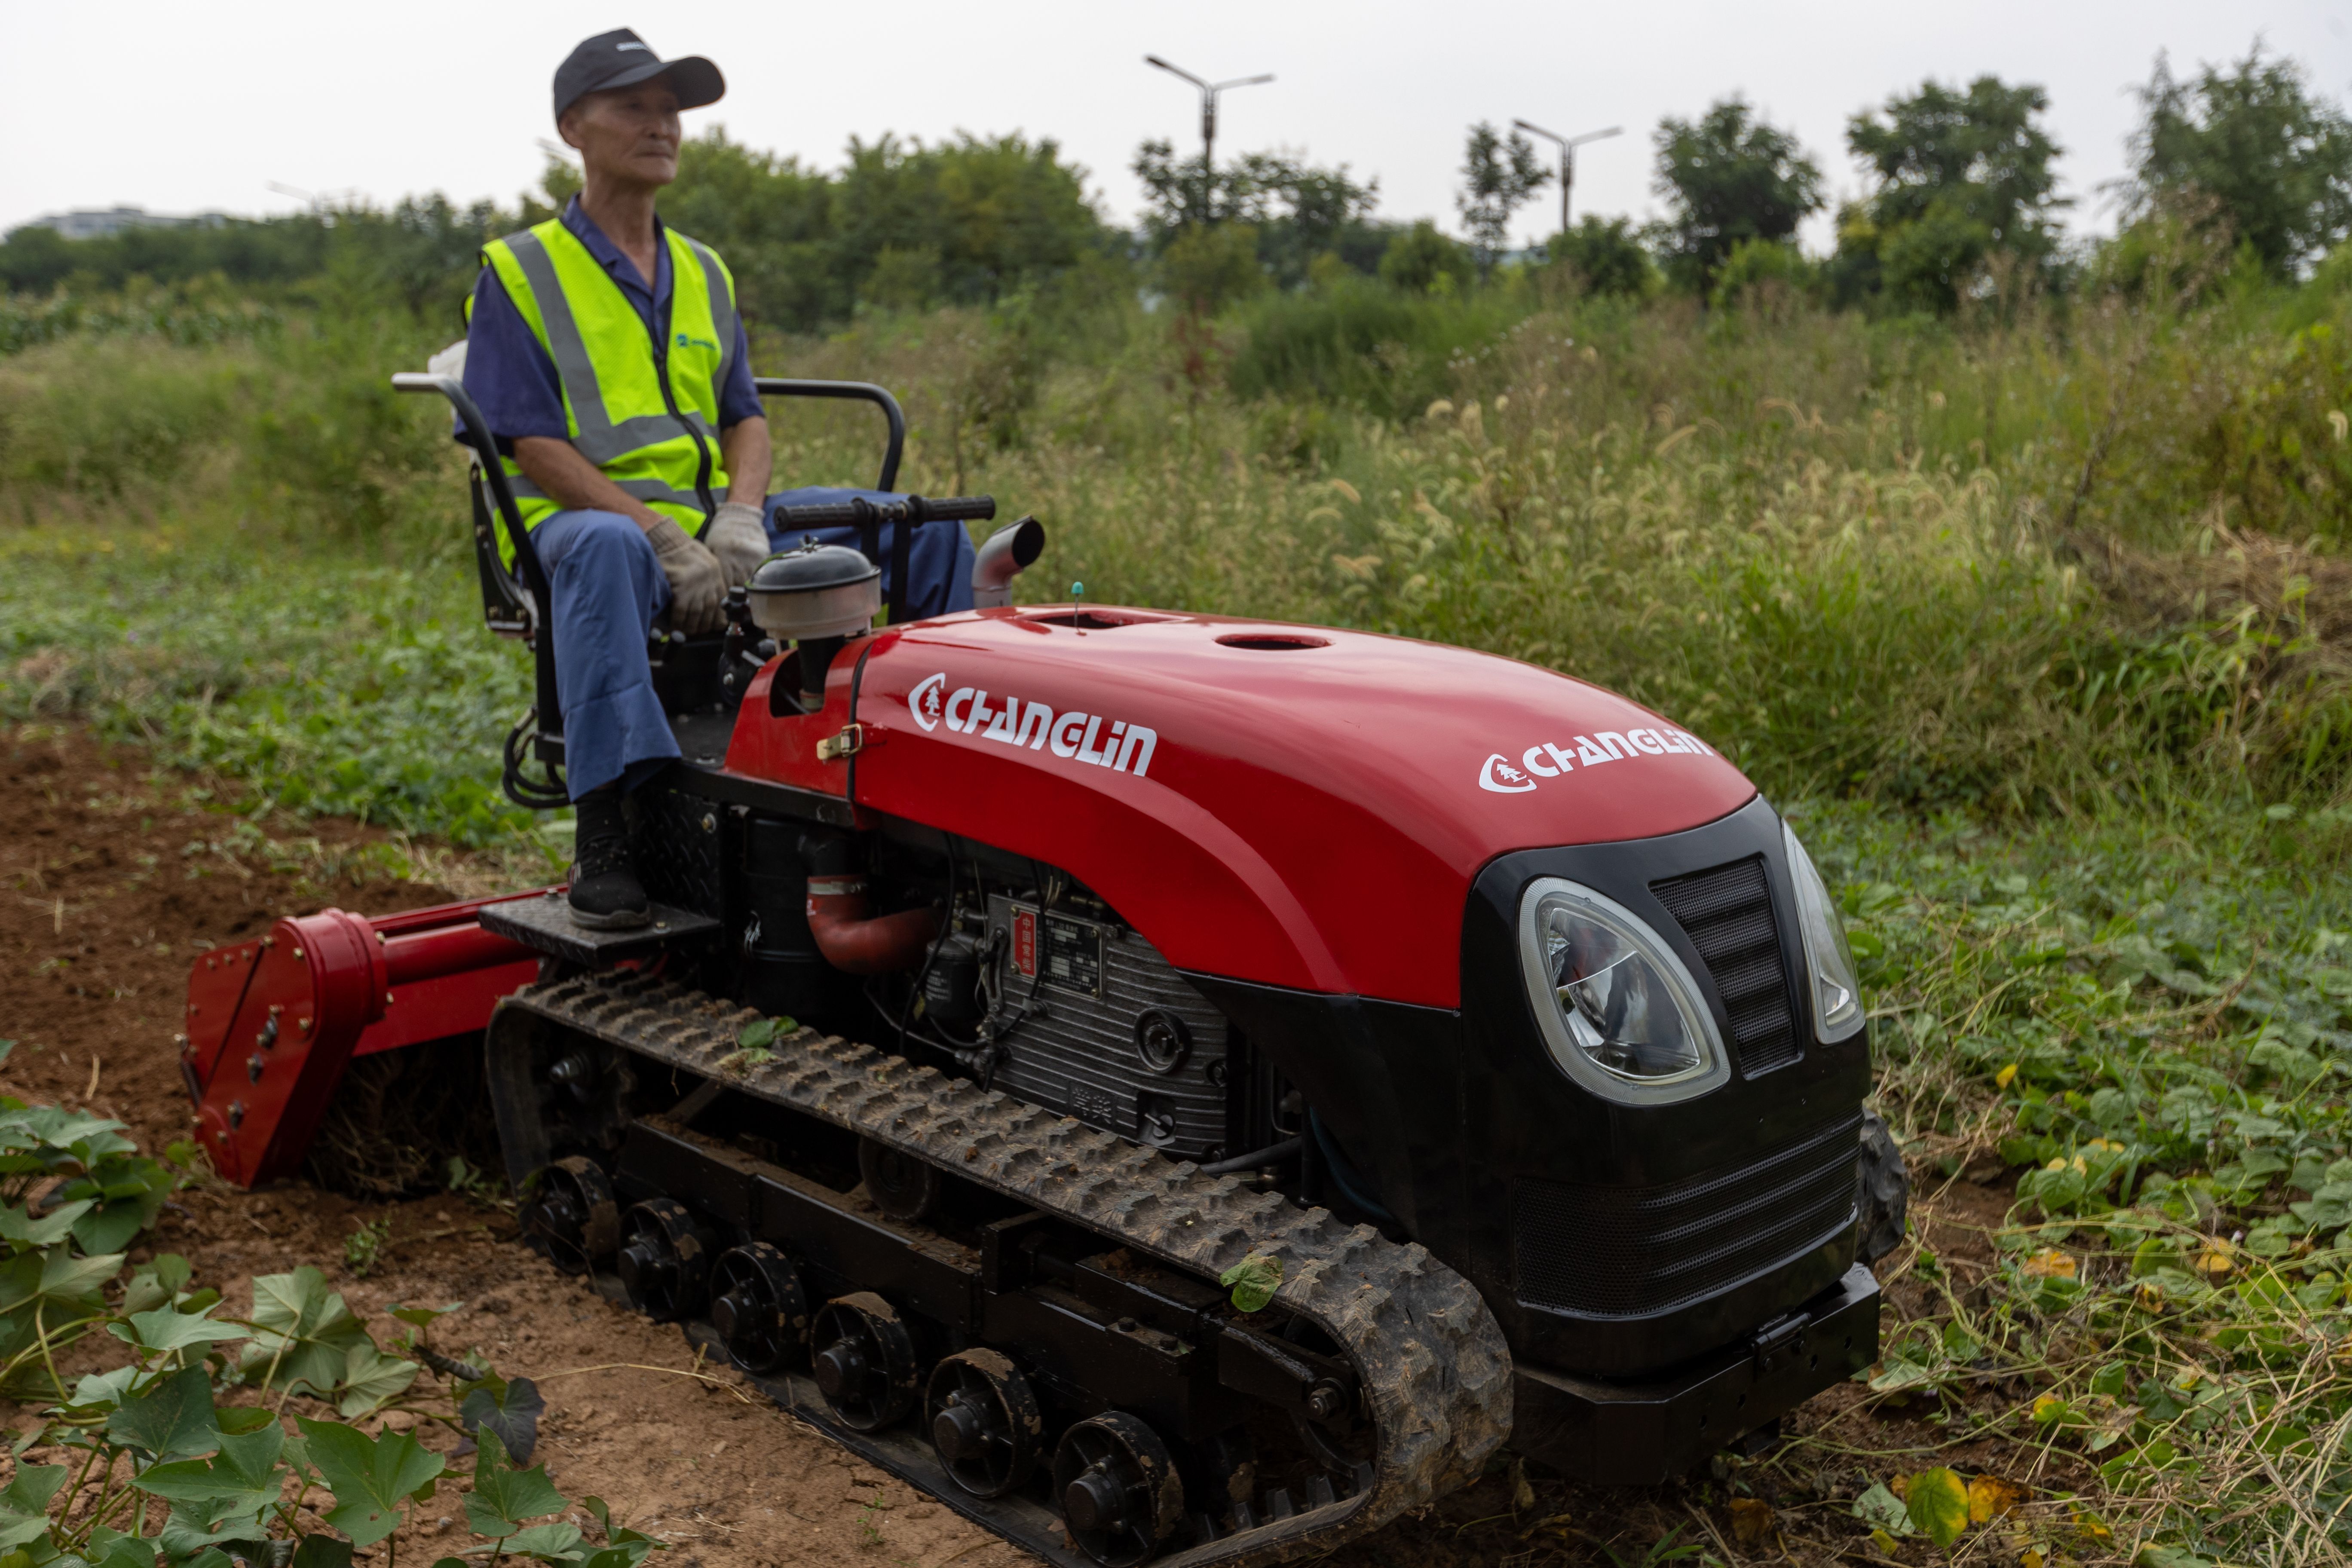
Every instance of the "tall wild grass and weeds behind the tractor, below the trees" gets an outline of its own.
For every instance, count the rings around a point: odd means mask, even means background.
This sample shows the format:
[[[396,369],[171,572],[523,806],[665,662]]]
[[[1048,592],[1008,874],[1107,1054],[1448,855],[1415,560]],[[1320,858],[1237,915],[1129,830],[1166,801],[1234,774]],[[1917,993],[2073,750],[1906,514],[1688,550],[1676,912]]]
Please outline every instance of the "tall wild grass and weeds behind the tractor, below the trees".
[[[1209,324],[1103,292],[868,315],[757,357],[898,388],[901,484],[1047,522],[1033,597],[1084,581],[1461,642],[1668,710],[1783,795],[2065,813],[2343,797],[2347,334],[2333,284],[1889,324],[1338,280]],[[132,621],[54,607],[94,597],[78,571],[106,595],[153,571],[158,524],[195,555],[266,555],[252,592],[301,564],[332,599],[369,562],[463,623],[447,416],[383,386],[433,348],[353,306],[0,360],[0,517],[26,545],[115,543],[12,555],[7,644],[92,675],[9,679],[5,701],[132,691],[94,675]],[[774,425],[781,482],[870,482],[870,411],[788,404]],[[174,614],[235,614],[235,581]],[[477,802],[454,811],[480,830]]]

